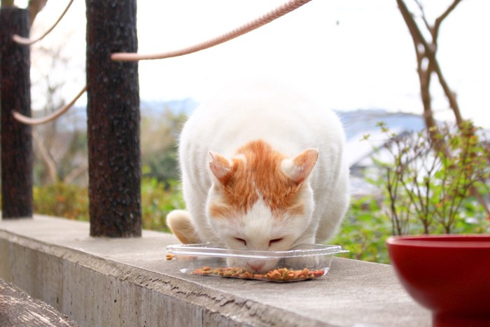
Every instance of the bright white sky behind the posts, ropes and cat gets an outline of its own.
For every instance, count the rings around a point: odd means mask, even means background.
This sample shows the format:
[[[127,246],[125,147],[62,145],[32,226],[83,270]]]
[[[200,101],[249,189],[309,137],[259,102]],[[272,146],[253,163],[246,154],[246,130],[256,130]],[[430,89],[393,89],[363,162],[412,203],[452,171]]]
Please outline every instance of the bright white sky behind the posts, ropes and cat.
[[[200,43],[285,2],[140,0],[139,53],[162,53]],[[406,2],[411,4],[412,0]],[[423,1],[429,21],[433,22],[450,2]],[[48,1],[34,22],[31,36],[50,27],[67,3]],[[60,51],[70,58],[68,67],[59,74],[66,83],[67,100],[85,84],[84,6],[85,1],[74,1],[66,18],[41,45],[33,47],[31,55],[33,66],[41,67],[33,73],[34,80],[43,69],[43,74],[50,74],[50,61],[36,55],[39,47],[61,47]],[[463,118],[484,127],[490,127],[489,12],[490,1],[461,1],[442,24],[437,53]],[[294,83],[332,109],[422,113],[413,43],[395,0],[312,0],[214,48],[183,57],[141,61],[140,97],[160,101],[192,97],[201,102],[230,81],[254,76]],[[438,86],[433,95],[436,117],[451,118]],[[42,99],[33,91],[34,107],[41,106]]]

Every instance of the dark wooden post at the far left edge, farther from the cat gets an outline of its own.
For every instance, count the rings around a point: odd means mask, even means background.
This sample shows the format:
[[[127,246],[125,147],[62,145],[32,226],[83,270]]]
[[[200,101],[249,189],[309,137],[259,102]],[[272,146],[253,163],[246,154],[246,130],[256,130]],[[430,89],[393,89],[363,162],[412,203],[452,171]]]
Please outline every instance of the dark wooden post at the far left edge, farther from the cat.
[[[29,37],[29,12],[0,9],[1,211],[2,218],[32,218],[32,133],[12,111],[31,116],[29,46],[12,40]]]

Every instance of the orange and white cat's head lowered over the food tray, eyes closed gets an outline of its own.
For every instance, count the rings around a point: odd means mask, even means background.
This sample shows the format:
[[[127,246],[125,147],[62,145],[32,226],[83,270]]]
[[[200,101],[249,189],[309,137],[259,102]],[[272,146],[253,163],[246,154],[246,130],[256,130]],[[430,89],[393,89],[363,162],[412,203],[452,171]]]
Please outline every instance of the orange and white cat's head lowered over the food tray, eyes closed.
[[[253,141],[232,158],[209,154],[214,180],[207,216],[216,235],[230,249],[288,250],[304,234],[314,209],[308,177],[318,151],[307,149],[294,158]],[[250,270],[269,270],[248,261]],[[269,267],[270,266],[270,267]]]

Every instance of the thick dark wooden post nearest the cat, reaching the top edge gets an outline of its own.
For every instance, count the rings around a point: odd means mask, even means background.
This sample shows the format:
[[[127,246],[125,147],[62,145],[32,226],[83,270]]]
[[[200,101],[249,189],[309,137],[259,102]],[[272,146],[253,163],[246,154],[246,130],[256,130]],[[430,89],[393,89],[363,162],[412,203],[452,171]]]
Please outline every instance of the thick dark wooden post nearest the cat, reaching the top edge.
[[[136,0],[86,0],[90,235],[141,236]]]

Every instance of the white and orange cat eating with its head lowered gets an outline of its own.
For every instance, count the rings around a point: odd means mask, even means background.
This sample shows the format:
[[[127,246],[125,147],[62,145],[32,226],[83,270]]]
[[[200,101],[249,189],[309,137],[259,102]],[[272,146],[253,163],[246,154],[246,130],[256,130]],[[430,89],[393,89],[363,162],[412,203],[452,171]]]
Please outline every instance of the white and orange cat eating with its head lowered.
[[[187,210],[172,211],[167,225],[183,244],[229,249],[325,242],[349,206],[344,139],[336,114],[294,88],[254,81],[222,90],[183,127]]]

